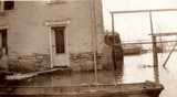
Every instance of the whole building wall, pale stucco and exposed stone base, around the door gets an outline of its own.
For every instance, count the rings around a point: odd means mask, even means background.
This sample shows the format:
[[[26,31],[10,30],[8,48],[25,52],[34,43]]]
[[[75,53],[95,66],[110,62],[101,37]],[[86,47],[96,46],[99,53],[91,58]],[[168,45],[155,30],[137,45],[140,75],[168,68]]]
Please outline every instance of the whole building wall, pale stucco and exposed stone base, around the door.
[[[93,33],[98,33],[96,36],[100,39],[103,32],[102,2],[96,0],[94,22],[93,1],[95,0],[64,0],[62,3],[15,1],[14,10],[6,12],[6,15],[0,19],[0,25],[8,28],[9,67],[24,72],[50,68],[50,31],[46,22],[66,20],[70,21],[65,32],[71,67],[81,71],[85,64],[92,66]],[[102,42],[102,40],[96,41],[97,44]],[[85,62],[75,56],[87,60]],[[81,64],[81,62],[85,63]]]

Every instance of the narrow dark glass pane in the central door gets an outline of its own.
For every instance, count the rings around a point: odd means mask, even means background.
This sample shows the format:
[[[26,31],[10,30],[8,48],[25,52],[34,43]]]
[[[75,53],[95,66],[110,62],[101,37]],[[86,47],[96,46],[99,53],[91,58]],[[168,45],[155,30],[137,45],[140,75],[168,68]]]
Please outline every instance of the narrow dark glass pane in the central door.
[[[65,53],[65,45],[64,45],[65,26],[53,26],[52,30],[54,31],[55,35],[55,53],[56,54]]]

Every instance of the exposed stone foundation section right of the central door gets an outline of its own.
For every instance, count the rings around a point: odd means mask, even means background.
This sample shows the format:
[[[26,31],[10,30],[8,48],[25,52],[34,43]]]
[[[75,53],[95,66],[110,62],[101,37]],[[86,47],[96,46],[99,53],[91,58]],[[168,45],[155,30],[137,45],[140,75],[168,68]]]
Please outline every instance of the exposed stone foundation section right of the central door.
[[[93,71],[94,69],[94,54],[92,52],[70,54],[71,68],[73,71]],[[104,54],[96,55],[97,69],[103,69],[106,65],[106,56]]]

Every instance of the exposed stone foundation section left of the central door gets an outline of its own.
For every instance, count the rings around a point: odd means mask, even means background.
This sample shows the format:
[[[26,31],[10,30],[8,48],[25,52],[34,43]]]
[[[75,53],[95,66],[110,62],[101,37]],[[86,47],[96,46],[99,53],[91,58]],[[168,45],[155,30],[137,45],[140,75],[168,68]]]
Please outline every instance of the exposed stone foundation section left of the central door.
[[[37,72],[50,68],[49,54],[11,55],[9,56],[9,71]]]

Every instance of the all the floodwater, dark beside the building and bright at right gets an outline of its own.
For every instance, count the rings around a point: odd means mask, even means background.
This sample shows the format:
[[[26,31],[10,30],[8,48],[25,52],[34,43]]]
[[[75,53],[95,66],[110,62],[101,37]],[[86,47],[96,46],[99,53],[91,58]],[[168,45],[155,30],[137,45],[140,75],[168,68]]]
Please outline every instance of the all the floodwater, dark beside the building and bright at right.
[[[159,54],[159,79],[165,86],[160,97],[177,96],[177,52],[173,53],[167,63],[167,69],[162,64],[167,54]],[[125,56],[124,68],[118,72],[118,83],[140,83],[145,80],[154,82],[154,68],[152,53],[142,55]],[[114,84],[115,77],[112,71],[97,72],[97,82],[100,84]],[[56,73],[40,75],[21,83],[23,86],[74,86],[94,84],[94,73]]]

